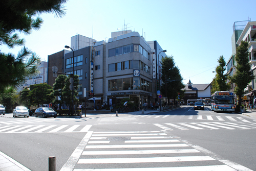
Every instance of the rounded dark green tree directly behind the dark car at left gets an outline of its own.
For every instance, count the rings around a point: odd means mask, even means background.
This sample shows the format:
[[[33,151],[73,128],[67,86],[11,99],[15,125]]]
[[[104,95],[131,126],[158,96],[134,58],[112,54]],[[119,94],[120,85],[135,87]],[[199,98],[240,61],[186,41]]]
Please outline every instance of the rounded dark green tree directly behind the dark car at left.
[[[52,87],[46,83],[30,85],[28,96],[31,99],[31,105],[39,107],[39,105],[51,103],[54,99],[51,95],[52,91]]]

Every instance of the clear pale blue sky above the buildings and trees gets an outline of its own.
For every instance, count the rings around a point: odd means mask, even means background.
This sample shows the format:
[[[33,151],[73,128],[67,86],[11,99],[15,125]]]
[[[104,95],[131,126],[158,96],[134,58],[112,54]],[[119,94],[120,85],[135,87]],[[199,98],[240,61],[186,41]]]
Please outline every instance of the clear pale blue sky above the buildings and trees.
[[[174,56],[176,66],[188,83],[210,83],[215,77],[218,58],[226,62],[231,56],[232,26],[235,21],[256,20],[255,0],[70,0],[64,6],[66,16],[42,14],[44,23],[26,39],[26,47],[47,61],[48,55],[71,44],[80,34],[97,41],[108,40],[111,32],[124,28],[139,32],[146,41],[157,40],[167,55]],[[143,32],[142,32],[143,29]],[[17,54],[0,46],[2,52]]]

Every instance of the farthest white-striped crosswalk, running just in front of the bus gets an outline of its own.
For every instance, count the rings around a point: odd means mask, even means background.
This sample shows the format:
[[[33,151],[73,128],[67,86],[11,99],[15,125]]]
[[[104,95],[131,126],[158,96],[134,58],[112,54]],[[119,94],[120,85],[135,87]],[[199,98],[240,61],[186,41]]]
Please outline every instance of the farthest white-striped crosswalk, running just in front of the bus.
[[[130,117],[144,117],[144,118],[187,118],[187,119],[196,119],[196,120],[219,120],[219,121],[244,121],[251,122],[243,117],[239,116],[216,116],[216,115],[156,115],[156,114],[148,114],[148,115],[136,115]],[[256,120],[254,120],[256,121]]]

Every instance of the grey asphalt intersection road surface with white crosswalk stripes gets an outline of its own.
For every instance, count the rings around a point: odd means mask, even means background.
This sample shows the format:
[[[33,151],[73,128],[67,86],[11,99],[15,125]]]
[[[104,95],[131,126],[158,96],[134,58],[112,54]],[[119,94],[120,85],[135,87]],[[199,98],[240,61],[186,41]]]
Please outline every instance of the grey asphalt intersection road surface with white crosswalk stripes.
[[[49,156],[56,156],[56,170],[256,170],[255,129],[251,117],[209,107],[118,117],[6,114],[0,151],[36,171],[48,170]]]

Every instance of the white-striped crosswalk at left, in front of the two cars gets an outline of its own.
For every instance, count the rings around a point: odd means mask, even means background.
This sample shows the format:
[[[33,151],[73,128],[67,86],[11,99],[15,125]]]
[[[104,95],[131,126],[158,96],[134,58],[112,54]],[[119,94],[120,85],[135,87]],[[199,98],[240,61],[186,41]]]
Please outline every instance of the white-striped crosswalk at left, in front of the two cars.
[[[2,133],[70,133],[88,132],[92,125],[6,125],[0,126]]]

